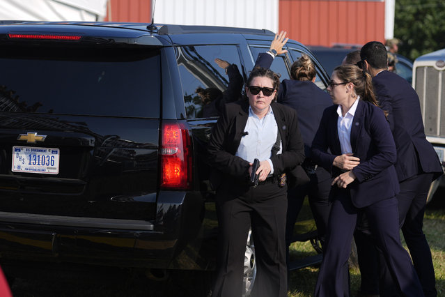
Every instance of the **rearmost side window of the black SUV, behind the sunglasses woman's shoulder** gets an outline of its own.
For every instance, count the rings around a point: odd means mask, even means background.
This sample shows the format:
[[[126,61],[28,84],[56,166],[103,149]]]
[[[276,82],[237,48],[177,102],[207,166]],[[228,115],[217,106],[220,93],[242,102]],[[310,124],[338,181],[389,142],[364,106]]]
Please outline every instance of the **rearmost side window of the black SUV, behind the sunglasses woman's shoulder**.
[[[187,119],[218,116],[217,105],[229,83],[226,70],[214,61],[221,59],[242,70],[236,45],[196,45],[176,48],[176,59],[184,94]],[[228,98],[236,101],[238,98]]]

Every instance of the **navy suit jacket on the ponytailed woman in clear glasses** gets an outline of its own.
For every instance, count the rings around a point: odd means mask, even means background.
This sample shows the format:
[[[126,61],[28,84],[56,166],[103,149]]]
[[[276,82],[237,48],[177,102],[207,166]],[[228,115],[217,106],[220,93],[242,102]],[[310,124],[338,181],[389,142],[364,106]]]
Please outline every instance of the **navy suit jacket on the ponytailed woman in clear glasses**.
[[[334,158],[341,155],[337,107],[333,105],[325,109],[312,144],[313,160],[334,176],[341,174],[341,170],[332,165]],[[354,114],[350,139],[352,153],[360,158],[360,164],[352,169],[357,179],[348,185],[352,204],[361,208],[397,195],[399,185],[393,167],[396,162],[396,145],[382,109],[360,100]],[[331,195],[336,195],[336,191],[338,188],[334,185]]]

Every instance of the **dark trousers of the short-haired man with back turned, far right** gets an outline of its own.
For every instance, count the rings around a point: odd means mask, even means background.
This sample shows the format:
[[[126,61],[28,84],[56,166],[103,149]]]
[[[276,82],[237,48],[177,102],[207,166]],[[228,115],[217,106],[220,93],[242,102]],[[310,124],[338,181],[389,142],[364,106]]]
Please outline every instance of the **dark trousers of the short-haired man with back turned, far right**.
[[[397,195],[400,226],[425,296],[437,296],[430,246],[423,234],[426,197],[433,174],[419,174],[400,183]],[[382,265],[381,296],[397,296],[387,266]]]

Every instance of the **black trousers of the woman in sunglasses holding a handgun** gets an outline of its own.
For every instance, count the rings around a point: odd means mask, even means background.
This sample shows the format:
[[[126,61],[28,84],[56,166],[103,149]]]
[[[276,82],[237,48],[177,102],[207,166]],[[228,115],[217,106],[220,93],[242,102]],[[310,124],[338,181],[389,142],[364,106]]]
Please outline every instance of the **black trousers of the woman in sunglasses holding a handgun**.
[[[265,183],[258,188],[223,183],[217,191],[219,222],[217,275],[212,296],[242,295],[244,252],[249,227],[257,274],[251,296],[287,296],[286,187]]]

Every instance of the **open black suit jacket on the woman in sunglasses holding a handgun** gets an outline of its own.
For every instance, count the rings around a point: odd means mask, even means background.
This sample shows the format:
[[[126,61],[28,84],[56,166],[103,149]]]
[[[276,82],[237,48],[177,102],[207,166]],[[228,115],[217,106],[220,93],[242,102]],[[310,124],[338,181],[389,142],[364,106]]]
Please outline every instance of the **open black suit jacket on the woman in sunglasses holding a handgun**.
[[[304,160],[304,144],[299,132],[298,119],[295,110],[272,102],[276,124],[281,135],[282,153],[271,158],[274,165],[274,175],[288,172]],[[228,103],[212,130],[208,146],[209,163],[221,175],[211,177],[212,185],[218,188],[221,180],[235,179],[245,181],[249,174],[249,162],[235,155],[240,146],[241,137],[249,117],[249,102],[240,100]]]

